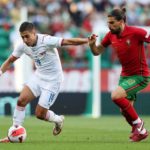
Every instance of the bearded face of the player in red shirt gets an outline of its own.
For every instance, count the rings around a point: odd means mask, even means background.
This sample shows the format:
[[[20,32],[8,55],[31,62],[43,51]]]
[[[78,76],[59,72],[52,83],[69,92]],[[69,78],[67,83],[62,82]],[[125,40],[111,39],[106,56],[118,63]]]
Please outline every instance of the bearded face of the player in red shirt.
[[[112,34],[120,34],[122,20],[118,21],[114,17],[108,17],[108,27]]]

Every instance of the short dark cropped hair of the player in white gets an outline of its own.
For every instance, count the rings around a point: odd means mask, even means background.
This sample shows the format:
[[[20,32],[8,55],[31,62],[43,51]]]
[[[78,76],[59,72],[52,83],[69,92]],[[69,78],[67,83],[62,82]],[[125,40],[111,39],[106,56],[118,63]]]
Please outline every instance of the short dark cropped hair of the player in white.
[[[19,28],[19,31],[20,32],[24,32],[24,31],[31,31],[35,29],[35,26],[33,23],[31,22],[23,22],[21,25],[20,25],[20,28]]]

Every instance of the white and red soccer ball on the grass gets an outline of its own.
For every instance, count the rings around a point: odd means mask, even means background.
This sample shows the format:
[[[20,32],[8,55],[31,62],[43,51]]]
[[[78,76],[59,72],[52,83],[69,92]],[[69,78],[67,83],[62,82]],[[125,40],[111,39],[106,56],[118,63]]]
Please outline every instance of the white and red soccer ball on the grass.
[[[12,126],[8,130],[8,139],[12,143],[22,143],[25,141],[27,137],[26,129],[19,125],[19,126]]]

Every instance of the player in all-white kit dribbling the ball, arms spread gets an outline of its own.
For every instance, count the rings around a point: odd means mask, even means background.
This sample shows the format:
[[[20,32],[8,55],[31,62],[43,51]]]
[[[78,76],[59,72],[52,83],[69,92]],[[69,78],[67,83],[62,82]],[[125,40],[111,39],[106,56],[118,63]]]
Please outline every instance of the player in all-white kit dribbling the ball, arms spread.
[[[58,135],[62,130],[64,116],[56,115],[49,110],[59,94],[63,81],[57,47],[86,44],[88,39],[63,39],[46,34],[37,34],[35,26],[30,22],[23,22],[19,31],[22,42],[16,45],[12,55],[2,64],[0,75],[7,71],[22,54],[26,54],[34,60],[36,71],[25,83],[20,93],[13,115],[13,126],[22,125],[26,105],[39,96],[35,115],[38,119],[55,123],[53,135]],[[1,139],[0,142],[10,141],[6,137]]]

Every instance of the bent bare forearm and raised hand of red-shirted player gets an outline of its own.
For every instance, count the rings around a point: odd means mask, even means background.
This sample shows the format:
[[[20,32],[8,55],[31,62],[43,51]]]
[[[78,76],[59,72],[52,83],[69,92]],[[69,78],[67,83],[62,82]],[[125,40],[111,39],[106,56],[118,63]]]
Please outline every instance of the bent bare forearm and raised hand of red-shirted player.
[[[97,35],[92,34],[89,38],[88,38],[88,42],[89,42],[89,46],[91,48],[91,51],[93,53],[93,55],[97,56],[99,54],[101,54],[104,51],[104,46],[103,45],[96,45],[96,38]]]

